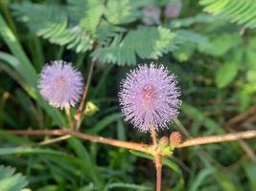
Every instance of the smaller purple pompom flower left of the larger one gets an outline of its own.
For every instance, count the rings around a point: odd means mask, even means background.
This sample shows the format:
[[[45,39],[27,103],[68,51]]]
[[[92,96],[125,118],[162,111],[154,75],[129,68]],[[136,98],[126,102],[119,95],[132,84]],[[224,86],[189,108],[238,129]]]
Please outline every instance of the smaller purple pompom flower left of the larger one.
[[[83,82],[79,71],[71,63],[53,61],[47,64],[39,76],[38,88],[50,105],[63,109],[75,106],[80,100]]]

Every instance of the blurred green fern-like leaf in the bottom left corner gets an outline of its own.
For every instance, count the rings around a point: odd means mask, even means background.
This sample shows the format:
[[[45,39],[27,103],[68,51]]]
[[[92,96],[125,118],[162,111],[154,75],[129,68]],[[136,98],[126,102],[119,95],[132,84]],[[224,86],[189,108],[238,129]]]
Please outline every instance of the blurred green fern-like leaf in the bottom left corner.
[[[12,167],[0,166],[0,188],[1,191],[25,191],[28,185],[26,178],[20,173],[15,173]],[[29,189],[26,189],[29,191]]]

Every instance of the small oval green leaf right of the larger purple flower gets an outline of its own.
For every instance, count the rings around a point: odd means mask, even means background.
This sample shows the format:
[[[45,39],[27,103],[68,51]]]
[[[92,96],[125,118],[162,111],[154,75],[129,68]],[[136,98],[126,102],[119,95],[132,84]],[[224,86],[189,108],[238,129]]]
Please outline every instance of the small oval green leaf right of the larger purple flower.
[[[218,88],[228,86],[238,74],[238,64],[233,62],[226,62],[221,65],[215,76],[215,82]]]

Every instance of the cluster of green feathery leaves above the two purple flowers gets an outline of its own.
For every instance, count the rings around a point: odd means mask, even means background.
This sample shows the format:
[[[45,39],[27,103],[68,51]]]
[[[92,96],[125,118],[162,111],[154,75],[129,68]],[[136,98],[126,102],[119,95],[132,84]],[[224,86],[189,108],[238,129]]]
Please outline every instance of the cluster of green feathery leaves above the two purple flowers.
[[[142,59],[157,59],[182,43],[180,36],[163,27],[141,27],[128,32],[122,40],[125,30],[115,25],[137,20],[142,4],[109,0],[105,7],[104,2],[69,1],[67,9],[58,5],[24,3],[13,6],[13,11],[32,32],[77,53],[90,51],[94,42],[99,43],[101,48],[92,55],[104,63],[135,64],[136,54]],[[102,19],[103,14],[107,21]],[[74,26],[70,26],[68,16],[76,23]]]

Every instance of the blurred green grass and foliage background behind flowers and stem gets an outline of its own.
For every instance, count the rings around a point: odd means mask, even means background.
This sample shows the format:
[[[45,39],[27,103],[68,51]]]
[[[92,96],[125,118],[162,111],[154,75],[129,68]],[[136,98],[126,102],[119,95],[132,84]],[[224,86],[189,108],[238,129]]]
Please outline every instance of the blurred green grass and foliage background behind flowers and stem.
[[[183,101],[182,124],[160,136],[255,129],[255,10],[251,0],[1,0],[0,190],[154,189],[148,156],[77,138],[38,146],[49,137],[8,133],[66,125],[36,88],[51,60],[72,62],[84,78],[96,60],[86,134],[151,142],[124,122],[117,99],[128,70],[151,62],[177,76]],[[255,139],[177,149],[164,161],[163,190],[254,191],[255,150]]]

